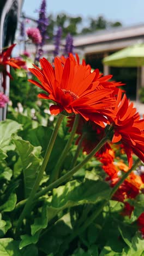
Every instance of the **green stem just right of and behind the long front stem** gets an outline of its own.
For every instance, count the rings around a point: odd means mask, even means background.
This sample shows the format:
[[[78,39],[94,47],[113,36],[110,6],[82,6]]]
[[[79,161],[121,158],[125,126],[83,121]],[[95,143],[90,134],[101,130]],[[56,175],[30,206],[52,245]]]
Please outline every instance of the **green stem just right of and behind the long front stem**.
[[[75,132],[77,129],[77,126],[79,125],[79,114],[75,115],[75,120],[74,120],[74,124],[73,124],[73,128],[70,132],[70,137],[68,139],[67,144],[65,145],[65,148],[61,154],[61,156],[59,157],[54,170],[52,171],[51,177],[50,177],[50,183],[52,183],[53,181],[56,181],[56,179],[58,179],[59,177],[59,171],[61,170],[61,166],[64,162],[64,159],[67,156],[67,153],[70,149],[71,143],[73,142],[74,136],[75,136]]]

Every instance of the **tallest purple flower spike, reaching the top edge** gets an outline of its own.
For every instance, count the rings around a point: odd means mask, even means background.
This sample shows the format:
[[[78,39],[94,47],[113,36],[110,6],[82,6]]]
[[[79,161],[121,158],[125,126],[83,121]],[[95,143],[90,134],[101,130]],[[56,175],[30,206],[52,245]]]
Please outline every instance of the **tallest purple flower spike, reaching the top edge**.
[[[39,10],[39,19],[37,21],[38,28],[42,37],[40,46],[43,46],[45,44],[45,40],[49,37],[47,37],[47,26],[49,25],[49,19],[46,18],[46,1],[43,0],[41,3],[41,7]]]

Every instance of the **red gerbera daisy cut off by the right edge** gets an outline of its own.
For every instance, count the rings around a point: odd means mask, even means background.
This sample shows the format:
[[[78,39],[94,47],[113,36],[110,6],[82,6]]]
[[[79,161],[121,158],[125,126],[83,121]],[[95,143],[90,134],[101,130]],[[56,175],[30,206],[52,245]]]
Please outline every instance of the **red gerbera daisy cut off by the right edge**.
[[[127,96],[119,91],[117,97],[118,107],[115,108],[115,118],[110,118],[113,123],[114,135],[112,142],[121,141],[128,157],[129,168],[133,164],[132,153],[144,161],[144,119],[140,120],[139,113],[130,103]]]

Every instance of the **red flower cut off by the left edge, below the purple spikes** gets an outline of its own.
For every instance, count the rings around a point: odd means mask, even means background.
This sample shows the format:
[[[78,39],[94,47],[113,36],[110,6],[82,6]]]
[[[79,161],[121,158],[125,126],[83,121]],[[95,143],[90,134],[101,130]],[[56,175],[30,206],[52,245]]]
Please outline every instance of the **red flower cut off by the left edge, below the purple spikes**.
[[[5,51],[2,51],[0,54],[0,72],[3,73],[3,90],[5,91],[5,77],[6,75],[11,77],[10,73],[7,71],[6,66],[9,65],[13,68],[20,68],[20,66],[25,65],[25,61],[16,60],[14,58],[10,58],[11,52],[16,44],[12,44],[9,48]]]

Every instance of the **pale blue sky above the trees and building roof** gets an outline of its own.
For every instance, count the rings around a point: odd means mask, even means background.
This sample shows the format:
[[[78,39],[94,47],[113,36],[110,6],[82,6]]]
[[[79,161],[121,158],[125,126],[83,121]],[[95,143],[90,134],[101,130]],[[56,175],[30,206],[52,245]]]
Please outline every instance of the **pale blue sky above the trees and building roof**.
[[[124,26],[144,23],[144,0],[46,0],[47,13],[64,12],[71,16],[103,15],[109,21],[121,21]],[[37,18],[41,0],[24,0],[22,10],[28,16]]]

